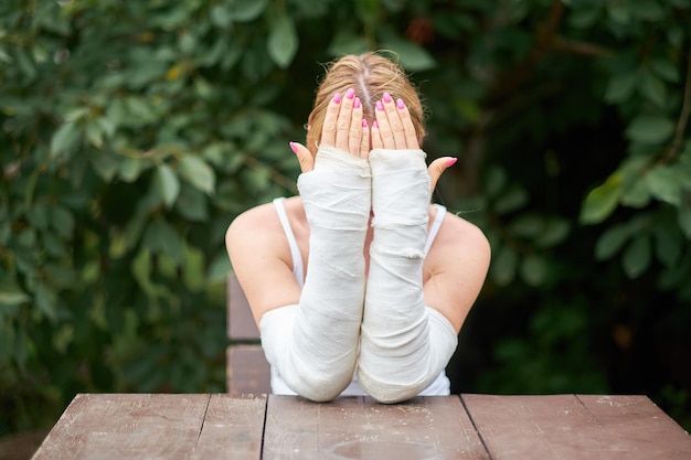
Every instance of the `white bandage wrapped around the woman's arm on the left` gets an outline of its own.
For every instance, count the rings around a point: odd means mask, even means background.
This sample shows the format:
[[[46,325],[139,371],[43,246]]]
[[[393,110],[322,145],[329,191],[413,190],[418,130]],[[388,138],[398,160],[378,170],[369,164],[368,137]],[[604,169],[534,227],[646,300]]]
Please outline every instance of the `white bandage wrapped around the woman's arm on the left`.
[[[294,392],[330,400],[350,384],[358,359],[370,165],[322,146],[298,190],[310,227],[307,278],[298,306],[264,314],[262,345]]]

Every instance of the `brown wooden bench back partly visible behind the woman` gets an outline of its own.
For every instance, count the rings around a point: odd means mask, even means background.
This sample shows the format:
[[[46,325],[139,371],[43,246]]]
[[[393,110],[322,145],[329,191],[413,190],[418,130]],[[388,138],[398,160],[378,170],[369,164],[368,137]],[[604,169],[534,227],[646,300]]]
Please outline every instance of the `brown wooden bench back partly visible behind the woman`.
[[[232,396],[270,393],[269,366],[259,331],[235,274],[227,277],[226,385]]]

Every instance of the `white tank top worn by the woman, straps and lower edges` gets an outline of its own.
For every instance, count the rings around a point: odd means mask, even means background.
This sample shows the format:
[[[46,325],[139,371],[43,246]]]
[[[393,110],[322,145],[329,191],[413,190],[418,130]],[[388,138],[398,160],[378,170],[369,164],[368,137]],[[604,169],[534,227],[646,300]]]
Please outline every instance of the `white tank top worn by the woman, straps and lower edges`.
[[[295,280],[298,282],[300,288],[305,286],[305,265],[302,264],[302,255],[300,254],[300,248],[298,247],[297,240],[295,239],[295,235],[293,233],[293,228],[290,227],[290,221],[288,221],[288,215],[286,214],[286,208],[284,206],[285,197],[278,197],[274,200],[274,206],[276,207],[276,212],[278,213],[278,218],[280,221],[280,225],[283,226],[284,233],[286,234],[286,238],[288,239],[288,246],[290,247],[290,256],[293,258],[293,275],[295,276]],[[437,208],[437,214],[429,226],[429,232],[427,233],[427,242],[425,242],[425,256],[429,252],[434,239],[439,233],[439,228],[442,228],[442,222],[444,221],[444,216],[446,214],[446,207],[440,204],[434,204]],[[280,377],[278,372],[272,367],[272,393],[276,395],[296,395],[296,393],[286,385],[284,379]],[[442,373],[437,376],[437,378],[425,389],[419,393],[419,396],[447,396],[451,393],[451,385],[446,376],[446,372],[442,371]],[[341,396],[366,396],[366,392],[362,389],[360,384],[358,383],[358,377],[353,374],[353,378],[350,382],[350,385],[341,392]]]

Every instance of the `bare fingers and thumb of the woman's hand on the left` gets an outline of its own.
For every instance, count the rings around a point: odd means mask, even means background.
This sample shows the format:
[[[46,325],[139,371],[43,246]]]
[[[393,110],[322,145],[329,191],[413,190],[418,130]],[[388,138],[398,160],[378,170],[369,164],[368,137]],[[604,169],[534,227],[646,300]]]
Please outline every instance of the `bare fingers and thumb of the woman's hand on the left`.
[[[336,147],[355,158],[366,160],[370,153],[370,128],[362,118],[362,105],[351,88],[344,97],[336,93],[327,108],[320,146]],[[315,157],[301,143],[290,142],[302,172],[315,169]],[[318,153],[317,153],[318,154]]]

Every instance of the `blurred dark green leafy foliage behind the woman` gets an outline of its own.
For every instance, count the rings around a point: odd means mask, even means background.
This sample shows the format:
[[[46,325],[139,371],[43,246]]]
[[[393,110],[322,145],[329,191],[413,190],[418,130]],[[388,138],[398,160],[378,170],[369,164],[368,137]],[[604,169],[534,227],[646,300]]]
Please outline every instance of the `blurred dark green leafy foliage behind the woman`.
[[[691,428],[690,0],[2,0],[0,439],[78,392],[224,392],[224,233],[296,193],[323,64],[386,50],[493,257],[454,392]],[[394,95],[395,96],[395,95]]]

